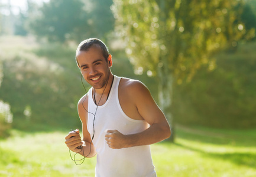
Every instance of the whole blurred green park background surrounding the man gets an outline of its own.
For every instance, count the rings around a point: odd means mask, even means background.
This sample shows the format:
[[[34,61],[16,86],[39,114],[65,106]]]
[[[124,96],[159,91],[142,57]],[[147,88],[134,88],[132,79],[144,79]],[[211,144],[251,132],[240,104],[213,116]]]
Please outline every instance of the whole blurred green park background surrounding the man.
[[[73,164],[62,139],[81,127],[75,51],[86,38],[105,42],[112,73],[141,80],[166,114],[158,176],[255,176],[255,28],[255,0],[1,0],[0,176],[93,176],[93,159],[63,170]],[[24,160],[31,149],[41,163]]]

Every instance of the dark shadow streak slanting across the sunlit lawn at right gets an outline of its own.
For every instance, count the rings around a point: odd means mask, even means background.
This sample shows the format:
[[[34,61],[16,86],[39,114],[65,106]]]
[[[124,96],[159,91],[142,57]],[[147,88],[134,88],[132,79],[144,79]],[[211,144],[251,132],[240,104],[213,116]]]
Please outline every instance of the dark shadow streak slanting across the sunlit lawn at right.
[[[250,153],[250,152],[205,152],[201,149],[192,148],[186,145],[183,145],[181,143],[174,143],[174,145],[180,146],[184,149],[192,150],[194,152],[200,153],[203,157],[209,157],[209,158],[215,158],[215,159],[221,159],[221,160],[227,160],[232,163],[235,163],[236,165],[242,165],[242,166],[248,166],[251,168],[256,169],[256,152]]]

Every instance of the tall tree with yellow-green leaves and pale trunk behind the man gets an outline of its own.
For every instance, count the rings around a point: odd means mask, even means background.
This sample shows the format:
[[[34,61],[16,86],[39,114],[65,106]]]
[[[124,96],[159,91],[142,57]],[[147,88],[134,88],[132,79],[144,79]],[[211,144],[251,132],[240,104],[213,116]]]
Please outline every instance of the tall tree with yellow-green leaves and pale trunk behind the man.
[[[157,76],[159,104],[171,126],[173,83],[190,81],[202,64],[213,70],[209,55],[237,45],[246,33],[239,19],[243,5],[227,0],[114,0],[116,31],[127,42],[135,67]]]

